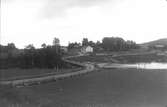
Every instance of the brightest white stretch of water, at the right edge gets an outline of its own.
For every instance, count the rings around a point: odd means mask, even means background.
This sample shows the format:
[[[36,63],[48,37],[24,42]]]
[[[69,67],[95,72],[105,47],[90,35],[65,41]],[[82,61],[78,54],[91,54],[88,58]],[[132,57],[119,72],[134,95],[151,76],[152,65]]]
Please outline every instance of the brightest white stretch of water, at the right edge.
[[[167,69],[167,63],[137,63],[137,64],[125,64],[123,66],[137,69]]]

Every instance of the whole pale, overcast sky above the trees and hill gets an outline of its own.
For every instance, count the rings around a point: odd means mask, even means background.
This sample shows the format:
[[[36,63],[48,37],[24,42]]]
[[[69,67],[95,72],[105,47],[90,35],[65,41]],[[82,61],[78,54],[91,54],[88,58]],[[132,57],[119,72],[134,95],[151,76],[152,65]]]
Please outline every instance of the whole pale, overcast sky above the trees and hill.
[[[166,0],[1,0],[0,44],[40,47],[122,37],[143,43],[167,38]]]

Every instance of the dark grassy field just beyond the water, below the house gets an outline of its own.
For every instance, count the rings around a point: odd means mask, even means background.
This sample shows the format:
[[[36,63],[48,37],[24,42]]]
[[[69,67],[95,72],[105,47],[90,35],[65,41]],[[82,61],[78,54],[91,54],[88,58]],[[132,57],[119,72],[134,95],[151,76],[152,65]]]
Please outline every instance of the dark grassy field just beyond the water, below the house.
[[[128,53],[130,55],[128,55]],[[146,53],[133,55],[133,53],[128,52],[127,54],[121,54],[121,52],[114,53],[118,56],[112,55],[90,55],[90,56],[80,56],[70,58],[70,60],[74,60],[77,62],[114,62],[113,59],[117,60],[119,63],[138,63],[138,62],[167,62],[167,56],[165,55],[157,55],[156,53]]]

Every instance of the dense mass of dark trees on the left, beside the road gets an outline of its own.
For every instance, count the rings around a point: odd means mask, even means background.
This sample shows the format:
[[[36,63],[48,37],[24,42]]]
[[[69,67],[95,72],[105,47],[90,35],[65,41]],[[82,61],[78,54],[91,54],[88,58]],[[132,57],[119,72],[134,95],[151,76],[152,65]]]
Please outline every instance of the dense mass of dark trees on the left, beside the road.
[[[18,49],[14,43],[0,45],[0,68],[64,68],[59,40],[54,39],[53,45],[42,44],[36,49],[32,44]]]

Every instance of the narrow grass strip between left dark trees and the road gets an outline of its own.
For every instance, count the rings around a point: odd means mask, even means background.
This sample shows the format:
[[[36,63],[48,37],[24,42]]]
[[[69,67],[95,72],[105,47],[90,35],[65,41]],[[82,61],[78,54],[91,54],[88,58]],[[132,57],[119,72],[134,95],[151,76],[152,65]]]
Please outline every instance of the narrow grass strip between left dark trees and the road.
[[[0,80],[22,79],[29,77],[38,77],[51,74],[62,74],[67,72],[76,72],[83,68],[73,69],[0,69]]]

